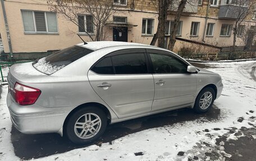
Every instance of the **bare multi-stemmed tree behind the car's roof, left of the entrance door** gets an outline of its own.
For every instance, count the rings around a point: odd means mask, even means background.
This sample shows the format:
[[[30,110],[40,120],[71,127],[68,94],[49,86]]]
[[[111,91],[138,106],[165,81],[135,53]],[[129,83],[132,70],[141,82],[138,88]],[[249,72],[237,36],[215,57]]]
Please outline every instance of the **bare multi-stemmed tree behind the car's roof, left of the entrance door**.
[[[92,41],[104,39],[104,26],[117,11],[113,0],[47,0],[47,3],[51,11],[74,23]]]

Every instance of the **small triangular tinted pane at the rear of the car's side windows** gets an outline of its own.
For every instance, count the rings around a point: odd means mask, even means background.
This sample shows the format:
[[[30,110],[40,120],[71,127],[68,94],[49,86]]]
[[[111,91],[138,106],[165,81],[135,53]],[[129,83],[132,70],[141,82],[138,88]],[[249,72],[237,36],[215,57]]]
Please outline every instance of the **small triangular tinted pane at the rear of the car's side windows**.
[[[92,68],[92,71],[98,74],[103,74],[103,75],[113,75],[114,70],[113,70],[111,58],[106,57],[102,59],[102,61],[98,62],[97,65],[95,65]]]

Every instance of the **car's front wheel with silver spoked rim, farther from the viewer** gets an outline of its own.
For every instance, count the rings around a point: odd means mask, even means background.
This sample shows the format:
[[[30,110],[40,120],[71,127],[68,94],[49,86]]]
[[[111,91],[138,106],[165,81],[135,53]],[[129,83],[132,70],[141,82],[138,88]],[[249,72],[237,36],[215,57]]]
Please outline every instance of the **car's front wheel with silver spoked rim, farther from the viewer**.
[[[205,99],[207,96],[207,99]],[[215,92],[212,88],[204,88],[195,99],[194,111],[196,113],[205,113],[212,108],[212,104],[215,100]]]

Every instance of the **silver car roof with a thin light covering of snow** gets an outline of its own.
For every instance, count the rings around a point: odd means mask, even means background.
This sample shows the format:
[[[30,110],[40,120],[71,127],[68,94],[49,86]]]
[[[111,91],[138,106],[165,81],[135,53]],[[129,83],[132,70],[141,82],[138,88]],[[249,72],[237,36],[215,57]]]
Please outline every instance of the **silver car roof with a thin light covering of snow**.
[[[91,49],[91,50],[98,50],[107,47],[116,47],[116,46],[127,46],[127,45],[138,45],[138,46],[150,46],[145,44],[138,44],[138,43],[127,43],[127,42],[111,42],[111,41],[101,41],[101,42],[88,42],[87,44],[80,43],[77,44],[79,47]]]

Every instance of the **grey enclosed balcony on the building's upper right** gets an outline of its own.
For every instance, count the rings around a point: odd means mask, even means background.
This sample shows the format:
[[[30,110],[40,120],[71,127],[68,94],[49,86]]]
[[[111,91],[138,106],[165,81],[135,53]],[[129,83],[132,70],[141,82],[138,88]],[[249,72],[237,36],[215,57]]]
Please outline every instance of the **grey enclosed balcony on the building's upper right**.
[[[246,11],[248,11],[248,7],[246,6],[238,6],[235,4],[221,5],[220,11],[218,12],[218,18],[236,20],[238,17],[243,15],[243,13],[245,13]],[[242,16],[239,19],[243,19],[243,18],[244,17]]]

